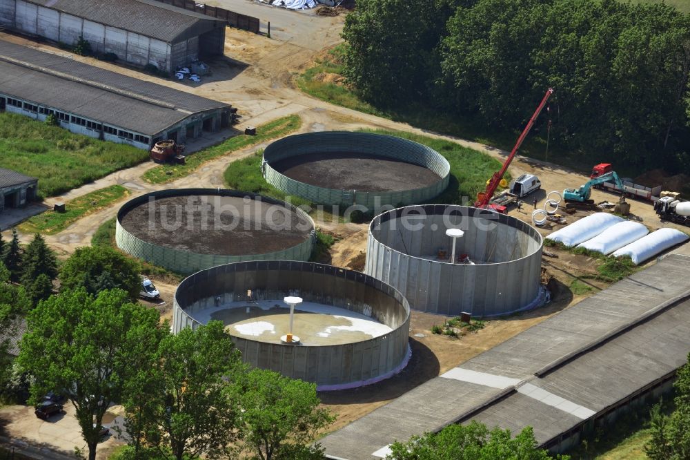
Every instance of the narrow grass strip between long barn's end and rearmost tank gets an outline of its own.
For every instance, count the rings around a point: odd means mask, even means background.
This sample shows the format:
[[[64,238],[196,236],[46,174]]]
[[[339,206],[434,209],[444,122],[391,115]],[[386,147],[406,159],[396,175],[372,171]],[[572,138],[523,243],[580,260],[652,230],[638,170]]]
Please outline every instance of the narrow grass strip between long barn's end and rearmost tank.
[[[221,155],[239,150],[255,144],[260,144],[267,140],[283,137],[288,133],[297,131],[301,126],[302,120],[299,115],[288,115],[274,119],[271,122],[257,126],[257,134],[250,136],[240,134],[217,146],[206,148],[202,151],[194,153],[186,157],[186,164],[161,164],[155,168],[149,169],[141,176],[146,182],[151,184],[165,184],[172,180],[183,178],[184,176],[193,173],[201,164],[204,164]]]

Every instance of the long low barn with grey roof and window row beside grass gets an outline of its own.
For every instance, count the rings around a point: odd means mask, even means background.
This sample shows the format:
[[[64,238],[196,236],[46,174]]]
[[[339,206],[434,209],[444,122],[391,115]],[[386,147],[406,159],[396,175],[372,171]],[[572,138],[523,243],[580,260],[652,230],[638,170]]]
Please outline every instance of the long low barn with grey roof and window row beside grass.
[[[0,40],[0,111],[139,148],[230,126],[230,105]]]

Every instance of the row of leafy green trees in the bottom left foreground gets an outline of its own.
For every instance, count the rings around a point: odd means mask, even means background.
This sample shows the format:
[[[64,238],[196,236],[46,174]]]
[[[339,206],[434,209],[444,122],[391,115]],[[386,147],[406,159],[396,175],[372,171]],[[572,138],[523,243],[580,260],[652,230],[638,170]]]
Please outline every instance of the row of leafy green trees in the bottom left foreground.
[[[308,442],[333,418],[315,385],[249,371],[219,321],[173,335],[159,319],[122,289],[41,300],[17,358],[30,403],[67,396],[91,460],[111,403],[126,411],[126,458],[322,458]]]

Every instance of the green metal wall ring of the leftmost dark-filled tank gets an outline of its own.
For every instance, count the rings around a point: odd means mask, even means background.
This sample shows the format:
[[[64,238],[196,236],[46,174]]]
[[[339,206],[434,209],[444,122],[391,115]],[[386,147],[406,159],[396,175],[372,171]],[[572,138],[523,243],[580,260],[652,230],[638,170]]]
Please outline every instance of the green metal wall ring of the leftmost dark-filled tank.
[[[243,256],[223,256],[217,254],[200,254],[181,249],[173,249],[161,245],[154,245],[151,242],[141,240],[137,236],[129,233],[121,224],[121,218],[124,214],[132,208],[146,204],[150,197],[153,198],[168,198],[173,196],[186,195],[218,195],[218,196],[232,196],[241,197],[246,196],[255,199],[260,198],[263,202],[270,204],[277,204],[284,206],[294,213],[298,213],[308,222],[311,222],[313,229],[310,238],[299,243],[299,245],[288,247],[282,251],[275,251],[263,254],[249,254]],[[119,249],[125,251],[131,256],[146,260],[153,265],[164,267],[168,270],[177,271],[182,274],[191,274],[196,271],[215,267],[217,265],[224,265],[233,262],[243,262],[246,260],[309,260],[311,252],[315,244],[315,225],[311,217],[302,209],[294,207],[282,200],[258,195],[256,193],[248,193],[235,190],[226,189],[169,189],[147,193],[126,202],[117,213],[117,223],[115,226],[115,242]]]

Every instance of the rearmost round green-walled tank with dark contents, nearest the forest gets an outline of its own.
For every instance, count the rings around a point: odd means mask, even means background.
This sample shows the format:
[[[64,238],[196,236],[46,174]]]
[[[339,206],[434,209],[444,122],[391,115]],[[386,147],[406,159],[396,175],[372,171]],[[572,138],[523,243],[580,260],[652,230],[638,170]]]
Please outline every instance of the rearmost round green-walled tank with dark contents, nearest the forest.
[[[326,131],[273,142],[262,171],[289,195],[377,211],[431,200],[448,186],[451,166],[433,148],[400,137]]]

